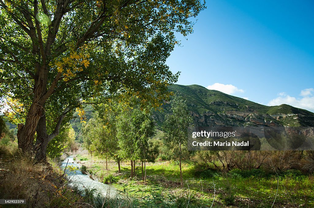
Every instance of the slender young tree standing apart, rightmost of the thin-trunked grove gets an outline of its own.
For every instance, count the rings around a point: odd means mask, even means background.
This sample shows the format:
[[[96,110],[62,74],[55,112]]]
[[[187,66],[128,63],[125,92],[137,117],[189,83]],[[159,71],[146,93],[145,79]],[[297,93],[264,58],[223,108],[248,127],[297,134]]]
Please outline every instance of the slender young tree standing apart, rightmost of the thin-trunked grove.
[[[164,128],[166,137],[164,144],[172,150],[173,158],[179,160],[181,188],[182,179],[182,158],[187,147],[188,127],[192,125],[192,116],[187,104],[181,97],[175,95],[170,101],[171,113],[165,116]]]

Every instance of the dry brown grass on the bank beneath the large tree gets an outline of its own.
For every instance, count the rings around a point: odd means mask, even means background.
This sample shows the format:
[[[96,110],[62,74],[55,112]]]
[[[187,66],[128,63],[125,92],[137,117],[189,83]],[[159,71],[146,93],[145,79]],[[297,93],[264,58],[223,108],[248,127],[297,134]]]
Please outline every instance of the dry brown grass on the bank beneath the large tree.
[[[21,207],[75,207],[81,201],[57,164],[37,164],[21,154],[7,158],[0,159],[1,199],[26,199]]]

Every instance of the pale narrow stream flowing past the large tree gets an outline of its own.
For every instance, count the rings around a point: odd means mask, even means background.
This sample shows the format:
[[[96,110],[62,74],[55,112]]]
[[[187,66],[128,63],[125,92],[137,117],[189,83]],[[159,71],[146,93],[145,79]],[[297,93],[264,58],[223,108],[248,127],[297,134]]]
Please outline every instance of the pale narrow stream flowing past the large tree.
[[[69,160],[69,161],[68,161]],[[85,188],[91,190],[95,189],[97,193],[100,193],[101,195],[105,197],[111,197],[113,198],[117,190],[112,187],[111,185],[107,185],[104,183],[101,183],[97,180],[90,179],[88,175],[83,174],[80,170],[70,171],[69,166],[77,167],[78,169],[81,168],[81,164],[78,164],[74,162],[73,156],[67,157],[61,165],[61,168],[64,169],[67,165],[66,174],[68,175],[68,179],[70,181],[70,186],[78,186],[79,190],[84,190]]]

